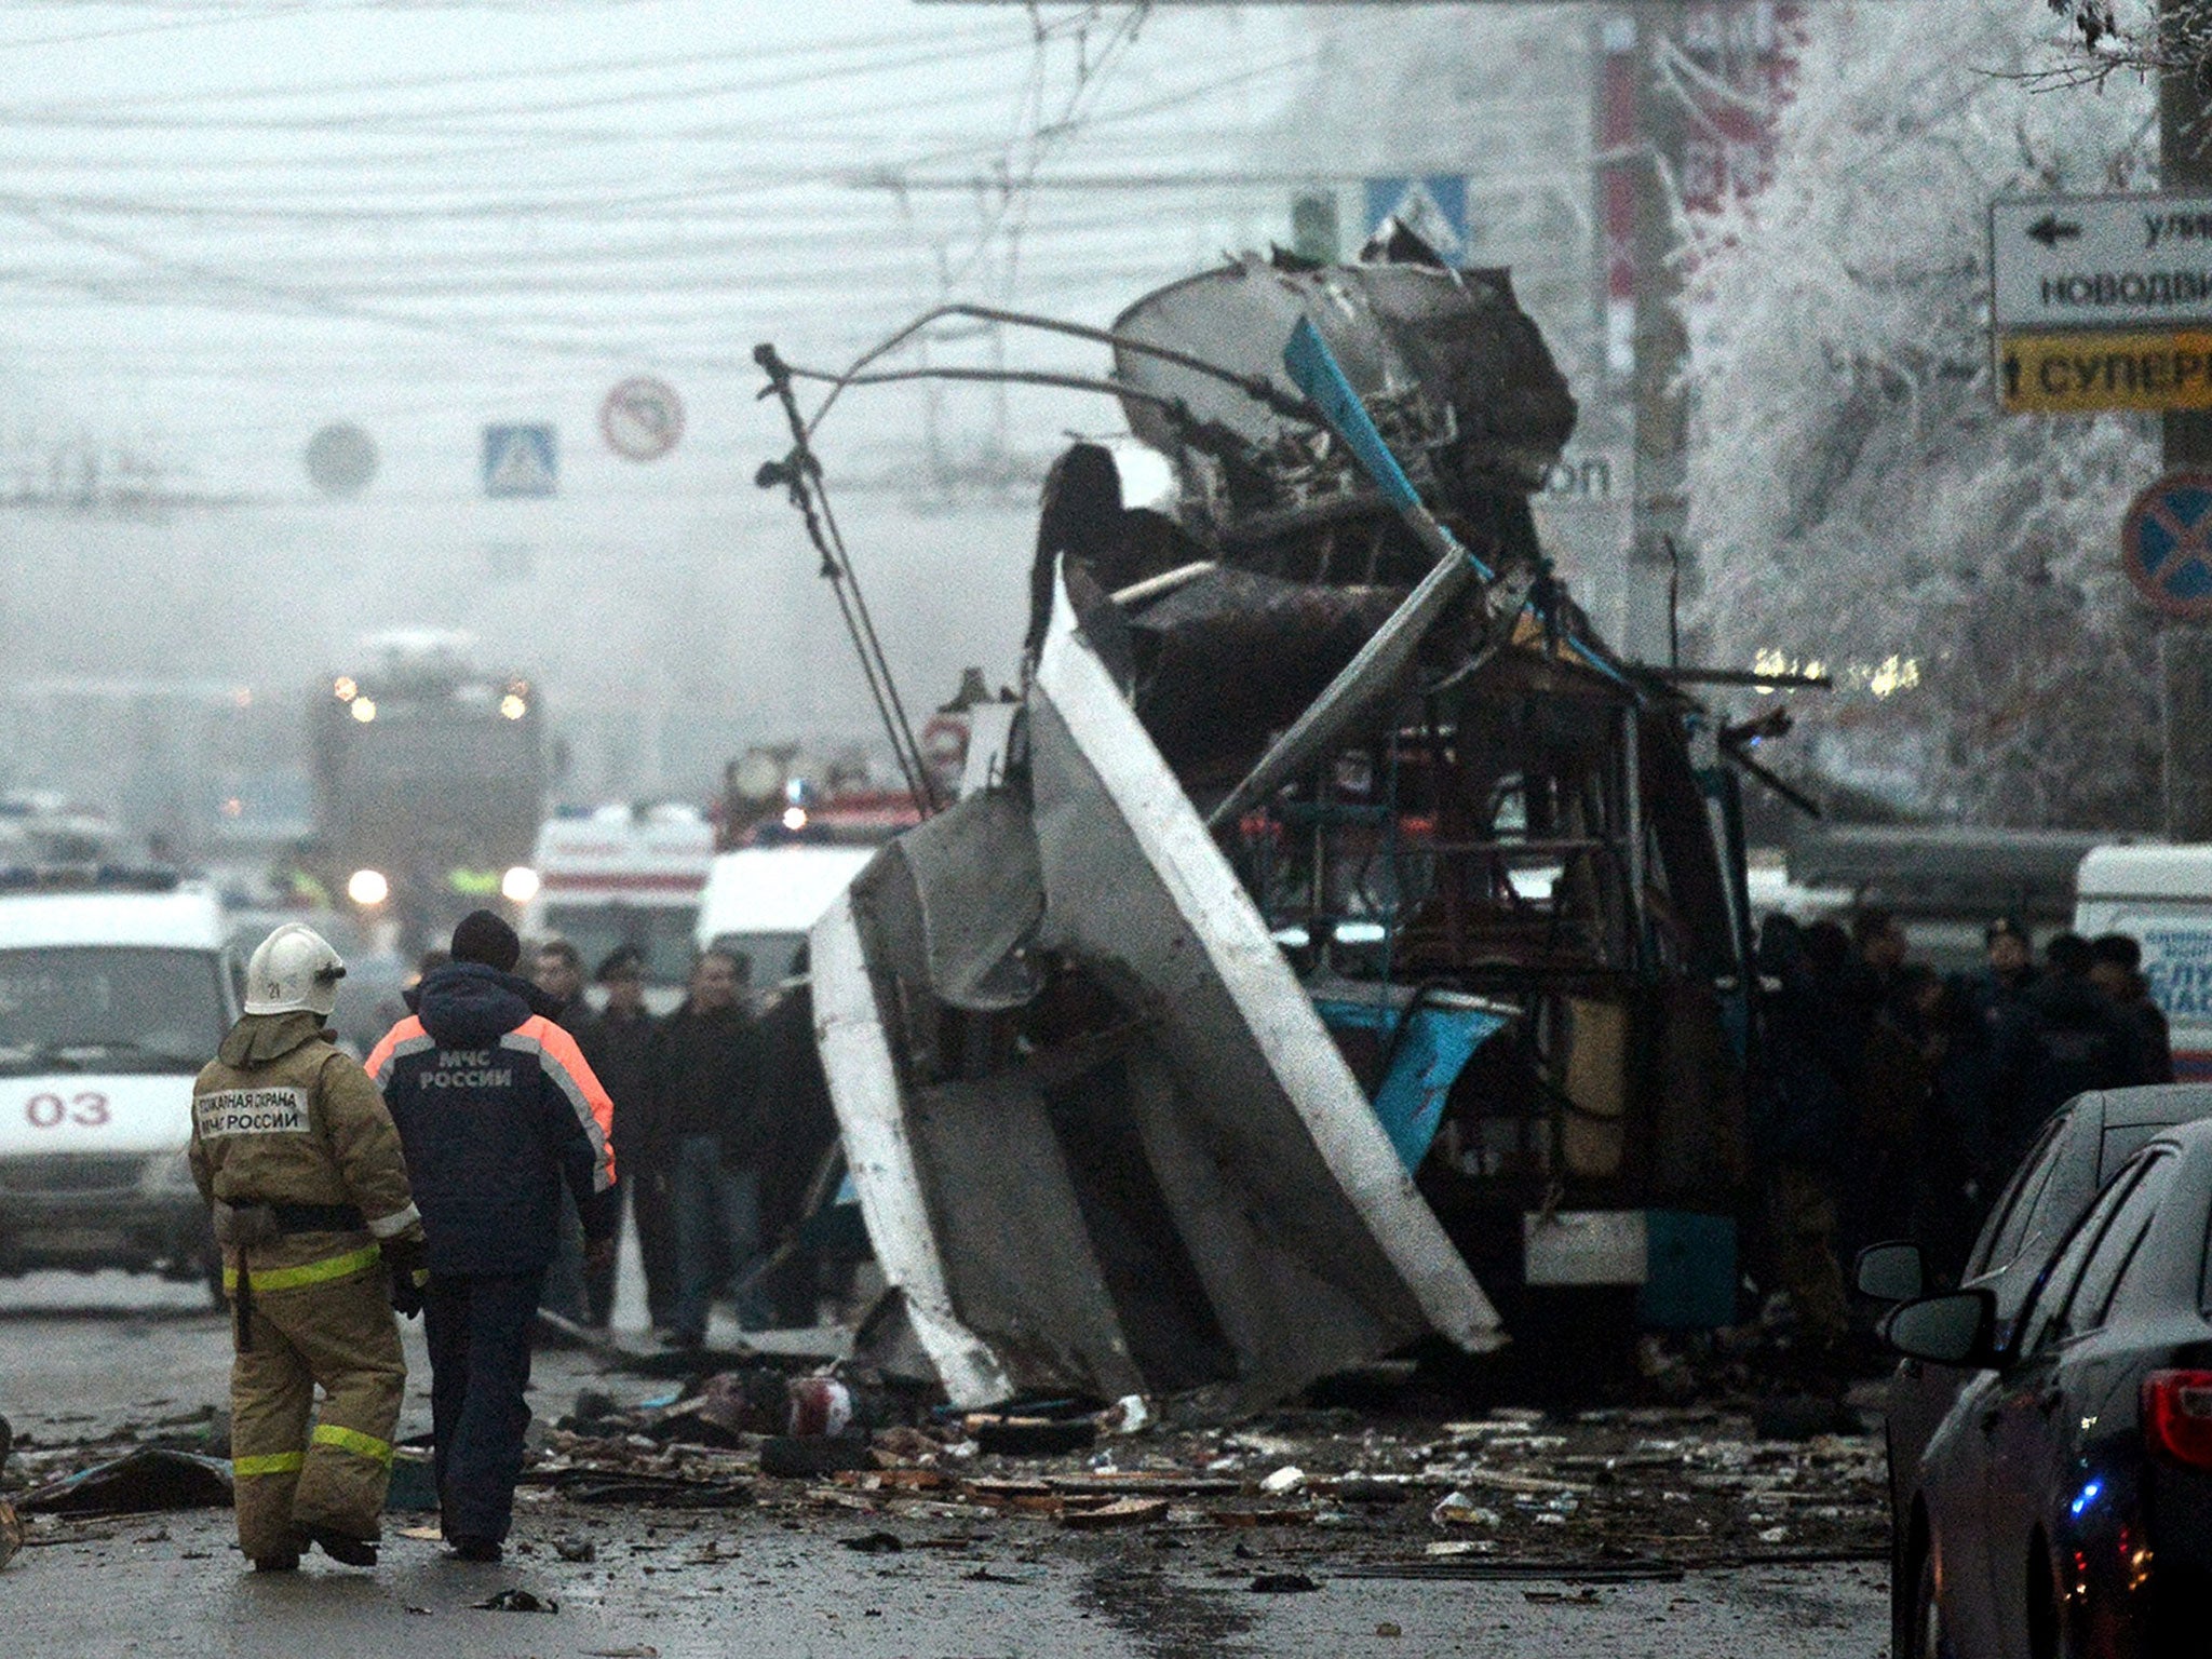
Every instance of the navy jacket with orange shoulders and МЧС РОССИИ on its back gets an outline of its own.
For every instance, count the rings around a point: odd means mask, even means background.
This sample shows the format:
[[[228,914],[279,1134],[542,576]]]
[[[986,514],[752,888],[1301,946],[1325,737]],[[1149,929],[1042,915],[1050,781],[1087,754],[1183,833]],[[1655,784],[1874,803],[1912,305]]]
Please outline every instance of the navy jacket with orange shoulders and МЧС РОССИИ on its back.
[[[369,1055],[407,1152],[436,1274],[526,1274],[553,1261],[560,1186],[588,1239],[613,1237],[615,1108],[529,980],[453,962]]]

